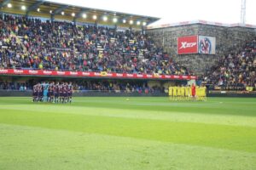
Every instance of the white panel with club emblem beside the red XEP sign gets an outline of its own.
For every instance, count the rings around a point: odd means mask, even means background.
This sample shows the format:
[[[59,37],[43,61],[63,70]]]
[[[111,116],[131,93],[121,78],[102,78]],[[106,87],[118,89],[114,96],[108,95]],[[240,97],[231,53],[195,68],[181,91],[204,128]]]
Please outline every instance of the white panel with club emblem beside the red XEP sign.
[[[198,37],[198,53],[199,54],[215,54],[216,38],[208,36]]]

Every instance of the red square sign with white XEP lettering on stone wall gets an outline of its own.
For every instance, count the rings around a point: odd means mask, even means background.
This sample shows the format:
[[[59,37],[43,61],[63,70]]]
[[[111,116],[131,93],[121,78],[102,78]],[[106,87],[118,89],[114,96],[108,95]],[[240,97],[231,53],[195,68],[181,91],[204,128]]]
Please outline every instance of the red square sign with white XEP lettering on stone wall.
[[[197,54],[198,36],[177,37],[177,54]]]

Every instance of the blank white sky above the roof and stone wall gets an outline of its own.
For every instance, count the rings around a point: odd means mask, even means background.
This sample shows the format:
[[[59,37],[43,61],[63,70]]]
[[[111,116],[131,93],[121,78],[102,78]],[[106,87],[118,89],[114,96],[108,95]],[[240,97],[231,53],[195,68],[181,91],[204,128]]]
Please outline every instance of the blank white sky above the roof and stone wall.
[[[49,0],[88,8],[160,17],[153,25],[190,20],[239,23],[241,0]],[[246,23],[256,25],[256,0],[247,0]]]

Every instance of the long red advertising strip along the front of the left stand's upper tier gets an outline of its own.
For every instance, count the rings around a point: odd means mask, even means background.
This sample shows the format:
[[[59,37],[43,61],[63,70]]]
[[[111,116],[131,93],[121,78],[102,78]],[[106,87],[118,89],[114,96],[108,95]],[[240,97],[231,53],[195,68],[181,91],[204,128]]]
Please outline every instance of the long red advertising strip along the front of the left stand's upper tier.
[[[148,75],[148,74],[129,74],[129,73],[108,73],[88,72],[88,71],[44,71],[44,70],[15,70],[0,69],[0,75],[23,75],[23,76],[49,76],[49,77],[109,77],[109,78],[133,78],[133,79],[169,79],[169,80],[195,80],[195,76],[177,75]]]

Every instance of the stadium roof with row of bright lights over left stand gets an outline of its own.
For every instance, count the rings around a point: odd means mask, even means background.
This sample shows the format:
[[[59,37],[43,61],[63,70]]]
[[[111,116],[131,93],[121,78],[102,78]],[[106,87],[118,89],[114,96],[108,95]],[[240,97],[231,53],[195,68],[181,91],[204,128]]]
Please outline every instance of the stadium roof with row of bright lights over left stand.
[[[76,20],[77,22],[121,27],[148,26],[160,18],[108,11],[98,8],[84,8],[64,3],[53,3],[44,0],[0,0],[3,13],[26,14],[28,16],[51,18],[55,20]]]

